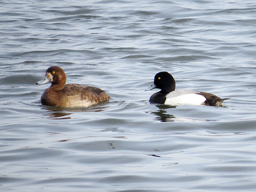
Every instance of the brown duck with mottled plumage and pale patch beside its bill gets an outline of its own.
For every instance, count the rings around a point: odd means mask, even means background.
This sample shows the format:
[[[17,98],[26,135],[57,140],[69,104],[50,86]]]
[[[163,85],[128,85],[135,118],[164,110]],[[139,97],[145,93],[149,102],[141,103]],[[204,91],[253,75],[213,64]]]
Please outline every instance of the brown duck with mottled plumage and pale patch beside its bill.
[[[36,84],[51,85],[43,92],[41,104],[59,108],[85,108],[109,100],[109,95],[97,87],[66,84],[66,74],[59,66],[49,67]]]

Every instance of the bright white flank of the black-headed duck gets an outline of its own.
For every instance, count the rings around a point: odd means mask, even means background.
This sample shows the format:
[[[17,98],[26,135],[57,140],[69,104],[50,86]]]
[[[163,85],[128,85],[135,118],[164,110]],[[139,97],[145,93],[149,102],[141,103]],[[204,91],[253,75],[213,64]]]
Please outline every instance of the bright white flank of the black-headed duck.
[[[177,97],[168,98],[166,96],[166,100],[164,104],[167,105],[201,105],[205,101],[205,97],[198,94],[185,94]]]

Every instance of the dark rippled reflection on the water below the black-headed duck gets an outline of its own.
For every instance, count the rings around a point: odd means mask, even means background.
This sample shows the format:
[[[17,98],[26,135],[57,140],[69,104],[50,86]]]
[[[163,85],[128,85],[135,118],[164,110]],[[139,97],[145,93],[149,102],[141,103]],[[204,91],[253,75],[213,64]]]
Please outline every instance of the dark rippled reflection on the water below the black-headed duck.
[[[170,114],[166,114],[167,110],[165,110],[165,109],[176,108],[175,106],[156,105],[156,107],[158,107],[159,110],[157,110],[157,111],[148,111],[147,113],[150,113],[150,114],[156,116],[155,119],[158,120],[158,121],[161,121],[161,122],[174,121],[175,116],[170,115]]]

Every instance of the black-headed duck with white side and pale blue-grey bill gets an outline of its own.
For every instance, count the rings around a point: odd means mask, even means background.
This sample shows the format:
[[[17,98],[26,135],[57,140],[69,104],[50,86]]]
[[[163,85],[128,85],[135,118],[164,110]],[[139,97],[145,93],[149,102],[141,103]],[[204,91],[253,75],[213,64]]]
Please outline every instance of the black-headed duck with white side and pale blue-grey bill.
[[[167,104],[167,105],[207,105],[207,106],[222,106],[224,100],[220,97],[207,92],[200,92],[189,89],[175,90],[175,80],[173,76],[162,71],[155,75],[154,82],[145,91],[152,89],[161,89],[159,92],[154,93],[149,98],[151,103]]]

